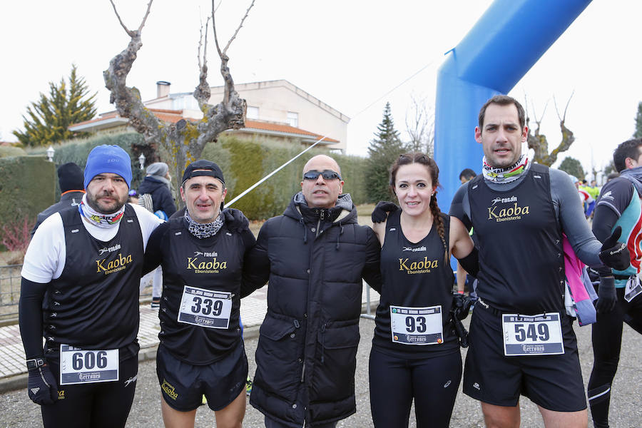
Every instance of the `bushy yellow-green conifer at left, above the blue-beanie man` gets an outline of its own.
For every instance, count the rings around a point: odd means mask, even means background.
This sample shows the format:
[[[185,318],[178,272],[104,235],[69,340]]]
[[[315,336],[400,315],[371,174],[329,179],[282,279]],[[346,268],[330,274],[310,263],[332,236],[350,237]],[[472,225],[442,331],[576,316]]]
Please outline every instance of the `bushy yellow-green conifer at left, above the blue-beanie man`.
[[[88,96],[89,89],[83,77],[72,64],[68,82],[64,78],[56,85],[49,82],[49,93],[40,93],[40,99],[27,107],[24,131],[14,131],[14,136],[25,146],[46,146],[76,137],[68,130],[70,125],[88,121],[96,116],[96,93]]]

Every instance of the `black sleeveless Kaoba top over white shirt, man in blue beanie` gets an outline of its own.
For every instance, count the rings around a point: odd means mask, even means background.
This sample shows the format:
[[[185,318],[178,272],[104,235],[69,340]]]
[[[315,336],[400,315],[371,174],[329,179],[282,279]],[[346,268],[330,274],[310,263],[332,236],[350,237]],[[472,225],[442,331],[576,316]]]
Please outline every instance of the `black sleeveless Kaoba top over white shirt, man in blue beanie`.
[[[143,269],[143,235],[136,212],[125,205],[118,233],[109,242],[87,232],[77,207],[60,215],[66,259],[61,276],[51,281],[46,294],[46,347],[110,350],[131,345],[138,334]]]

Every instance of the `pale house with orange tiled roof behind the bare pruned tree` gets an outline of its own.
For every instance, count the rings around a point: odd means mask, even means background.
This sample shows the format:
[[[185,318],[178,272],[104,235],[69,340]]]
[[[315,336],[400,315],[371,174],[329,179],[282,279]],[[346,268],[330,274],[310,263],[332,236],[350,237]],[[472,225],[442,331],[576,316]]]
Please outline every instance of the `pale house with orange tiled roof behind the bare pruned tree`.
[[[181,119],[203,118],[192,93],[170,93],[170,83],[166,81],[156,82],[156,89],[156,98],[144,103],[162,121],[176,123]],[[350,118],[310,93],[285,80],[237,83],[235,89],[248,103],[245,127],[225,133],[248,139],[266,136],[302,146],[310,146],[323,138],[320,145],[345,153]],[[223,86],[210,90],[210,103],[217,104],[223,97]],[[110,111],[91,121],[74,123],[69,130],[116,133],[126,131],[128,123],[128,118]]]

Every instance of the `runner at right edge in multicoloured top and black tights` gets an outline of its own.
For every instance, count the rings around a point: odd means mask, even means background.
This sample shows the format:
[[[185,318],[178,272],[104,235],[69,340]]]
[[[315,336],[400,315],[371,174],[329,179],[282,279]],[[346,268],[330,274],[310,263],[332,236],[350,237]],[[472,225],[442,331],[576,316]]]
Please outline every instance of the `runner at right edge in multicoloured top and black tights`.
[[[625,269],[604,267],[599,272],[605,279],[598,287],[597,322],[591,332],[593,370],[588,379],[588,404],[595,428],[608,427],[623,322],[642,333],[642,286],[638,279],[642,262],[642,139],[621,143],[613,152],[613,165],[620,175],[602,188],[593,217],[593,233],[598,240],[606,240],[615,228],[621,227],[620,242],[626,243],[631,261]]]

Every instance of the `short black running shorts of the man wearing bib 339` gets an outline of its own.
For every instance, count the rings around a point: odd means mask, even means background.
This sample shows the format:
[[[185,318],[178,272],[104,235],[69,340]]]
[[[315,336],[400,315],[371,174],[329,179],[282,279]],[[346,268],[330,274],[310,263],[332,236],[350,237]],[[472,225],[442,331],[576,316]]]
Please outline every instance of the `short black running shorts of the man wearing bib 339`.
[[[208,365],[180,361],[160,345],[156,354],[156,374],[163,399],[173,409],[190,412],[200,406],[205,395],[210,409],[221,410],[245,389],[248,359],[241,340],[235,350]]]

